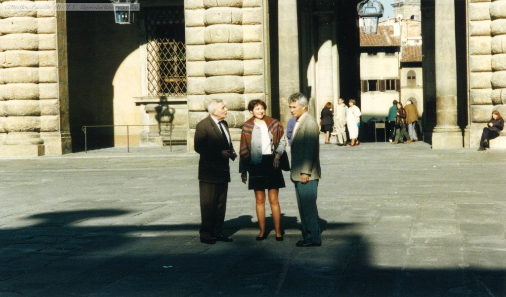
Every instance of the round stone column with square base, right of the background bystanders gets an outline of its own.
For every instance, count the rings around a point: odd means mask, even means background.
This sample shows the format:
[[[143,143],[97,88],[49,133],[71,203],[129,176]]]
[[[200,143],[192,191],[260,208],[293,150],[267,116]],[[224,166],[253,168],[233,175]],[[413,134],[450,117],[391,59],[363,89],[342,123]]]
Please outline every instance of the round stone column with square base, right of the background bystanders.
[[[455,51],[455,13],[453,0],[436,0],[436,122],[433,149],[462,147],[457,126],[457,75]]]

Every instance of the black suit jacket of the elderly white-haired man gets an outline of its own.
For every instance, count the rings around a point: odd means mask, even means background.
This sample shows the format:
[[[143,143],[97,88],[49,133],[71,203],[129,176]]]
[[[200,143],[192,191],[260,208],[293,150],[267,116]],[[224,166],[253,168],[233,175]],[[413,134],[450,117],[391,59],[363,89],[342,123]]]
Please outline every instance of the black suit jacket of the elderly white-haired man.
[[[227,122],[223,121],[230,135]],[[198,162],[198,179],[209,183],[230,182],[229,158],[222,157],[221,152],[229,150],[223,135],[211,116],[197,124],[195,129],[195,152],[200,154]],[[230,141],[230,150],[234,151]]]

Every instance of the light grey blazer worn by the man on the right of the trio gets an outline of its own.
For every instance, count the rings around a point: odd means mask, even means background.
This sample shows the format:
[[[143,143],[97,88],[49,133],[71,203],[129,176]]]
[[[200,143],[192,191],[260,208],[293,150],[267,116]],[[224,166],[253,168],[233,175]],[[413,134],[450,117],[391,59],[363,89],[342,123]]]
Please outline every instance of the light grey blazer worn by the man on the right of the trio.
[[[309,174],[309,180],[321,178],[319,126],[309,114],[301,118],[291,138],[292,181],[301,181],[301,174]]]

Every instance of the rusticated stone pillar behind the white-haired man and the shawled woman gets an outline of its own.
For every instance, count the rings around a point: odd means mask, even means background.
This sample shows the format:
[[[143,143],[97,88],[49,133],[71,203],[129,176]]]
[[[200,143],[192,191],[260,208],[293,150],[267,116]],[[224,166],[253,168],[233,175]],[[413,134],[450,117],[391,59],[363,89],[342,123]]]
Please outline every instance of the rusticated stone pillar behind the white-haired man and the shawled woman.
[[[247,103],[266,100],[263,19],[262,0],[185,0],[190,150],[210,100],[225,101],[233,140]]]

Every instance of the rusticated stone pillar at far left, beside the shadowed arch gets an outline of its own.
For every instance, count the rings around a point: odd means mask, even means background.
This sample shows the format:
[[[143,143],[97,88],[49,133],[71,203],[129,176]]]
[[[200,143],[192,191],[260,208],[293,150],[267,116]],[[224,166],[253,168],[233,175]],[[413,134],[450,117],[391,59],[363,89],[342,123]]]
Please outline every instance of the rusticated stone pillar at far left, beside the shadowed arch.
[[[60,155],[71,150],[65,12],[12,9],[15,5],[33,3],[0,1],[0,148],[3,156]],[[55,2],[36,2],[37,5],[45,3]]]

